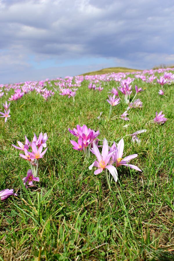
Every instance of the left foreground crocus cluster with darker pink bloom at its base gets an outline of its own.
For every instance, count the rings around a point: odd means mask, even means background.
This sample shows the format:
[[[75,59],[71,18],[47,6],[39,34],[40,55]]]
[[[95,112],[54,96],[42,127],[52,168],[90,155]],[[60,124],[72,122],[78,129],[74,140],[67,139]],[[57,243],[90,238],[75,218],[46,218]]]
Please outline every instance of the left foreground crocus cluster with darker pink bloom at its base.
[[[30,186],[33,186],[32,181],[39,181],[39,177],[37,177],[39,159],[42,158],[47,151],[47,139],[48,137],[46,133],[44,133],[44,135],[40,133],[38,139],[34,133],[32,142],[29,142],[25,136],[25,144],[18,141],[19,146],[12,145],[14,148],[23,151],[24,154],[20,153],[19,156],[30,163],[30,169],[27,172],[27,176],[23,178],[24,185],[28,182]],[[43,148],[46,149],[42,151]],[[28,186],[26,185],[26,187]]]

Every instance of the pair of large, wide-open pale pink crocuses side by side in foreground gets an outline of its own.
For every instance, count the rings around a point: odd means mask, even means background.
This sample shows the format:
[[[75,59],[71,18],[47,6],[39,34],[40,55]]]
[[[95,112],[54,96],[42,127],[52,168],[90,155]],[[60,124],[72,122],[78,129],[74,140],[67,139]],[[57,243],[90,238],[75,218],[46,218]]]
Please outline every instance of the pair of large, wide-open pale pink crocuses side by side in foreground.
[[[110,182],[108,179],[107,170],[113,176],[115,182],[117,182],[118,179],[117,168],[120,165],[124,165],[129,168],[134,168],[137,171],[141,171],[137,166],[129,164],[130,160],[136,158],[138,155],[133,154],[123,158],[123,150],[124,150],[123,139],[119,141],[117,146],[114,142],[109,150],[108,141],[104,138],[102,154],[100,154],[97,145],[95,143],[93,144],[92,152],[97,157],[97,160],[95,160],[95,162],[93,162],[93,164],[89,166],[89,169],[91,170],[93,166],[97,167],[98,169],[94,172],[95,175],[104,171],[109,188],[110,188]],[[113,166],[114,164],[115,166]]]

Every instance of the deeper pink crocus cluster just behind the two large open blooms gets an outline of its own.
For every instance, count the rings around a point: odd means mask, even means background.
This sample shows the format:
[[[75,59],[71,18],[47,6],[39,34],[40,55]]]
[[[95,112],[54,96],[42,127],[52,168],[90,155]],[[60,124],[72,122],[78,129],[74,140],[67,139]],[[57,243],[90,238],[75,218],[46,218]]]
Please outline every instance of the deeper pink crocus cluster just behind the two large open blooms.
[[[77,151],[84,151],[86,156],[89,156],[90,148],[92,144],[97,143],[97,136],[100,134],[99,131],[88,129],[86,125],[80,126],[77,125],[77,129],[73,128],[71,130],[68,128],[69,132],[78,138],[78,143],[74,140],[70,140],[70,143],[73,145],[73,149]]]

